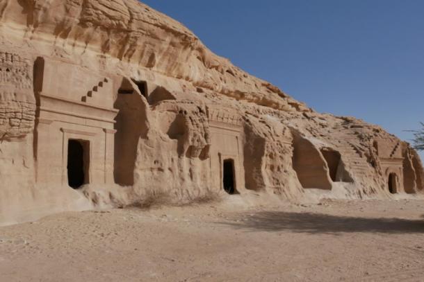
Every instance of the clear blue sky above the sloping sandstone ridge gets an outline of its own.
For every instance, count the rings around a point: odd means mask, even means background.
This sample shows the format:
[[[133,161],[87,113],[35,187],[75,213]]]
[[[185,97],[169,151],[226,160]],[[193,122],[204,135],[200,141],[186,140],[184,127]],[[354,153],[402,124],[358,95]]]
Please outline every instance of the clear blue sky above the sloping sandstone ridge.
[[[142,2],[318,112],[404,140],[424,121],[423,0]]]

